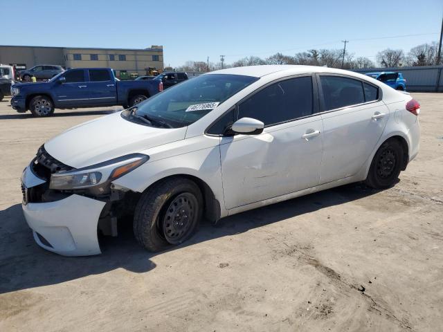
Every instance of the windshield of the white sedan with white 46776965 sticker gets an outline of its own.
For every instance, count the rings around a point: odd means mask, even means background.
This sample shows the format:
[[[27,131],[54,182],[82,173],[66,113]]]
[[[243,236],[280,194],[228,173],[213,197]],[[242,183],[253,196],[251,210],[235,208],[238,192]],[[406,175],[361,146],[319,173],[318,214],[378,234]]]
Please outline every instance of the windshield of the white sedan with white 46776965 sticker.
[[[122,116],[128,120],[143,117],[152,125],[163,123],[163,127],[185,127],[257,80],[243,75],[201,75],[154,95],[137,104],[135,112],[127,110]]]

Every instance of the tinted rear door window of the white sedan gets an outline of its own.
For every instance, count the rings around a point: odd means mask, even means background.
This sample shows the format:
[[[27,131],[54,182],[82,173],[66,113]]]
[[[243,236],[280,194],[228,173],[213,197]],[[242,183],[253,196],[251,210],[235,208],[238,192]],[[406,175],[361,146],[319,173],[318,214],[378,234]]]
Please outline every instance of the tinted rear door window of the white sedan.
[[[324,111],[365,102],[363,84],[359,80],[342,76],[320,75],[320,84],[323,91]]]

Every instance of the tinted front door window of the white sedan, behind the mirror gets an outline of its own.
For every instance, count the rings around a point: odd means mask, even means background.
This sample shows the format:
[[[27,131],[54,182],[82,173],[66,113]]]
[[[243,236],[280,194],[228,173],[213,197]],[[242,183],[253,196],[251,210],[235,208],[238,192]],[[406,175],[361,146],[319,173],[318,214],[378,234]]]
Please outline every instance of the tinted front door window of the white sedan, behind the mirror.
[[[238,118],[253,118],[265,127],[310,116],[313,113],[312,78],[280,81],[255,93],[239,104]]]

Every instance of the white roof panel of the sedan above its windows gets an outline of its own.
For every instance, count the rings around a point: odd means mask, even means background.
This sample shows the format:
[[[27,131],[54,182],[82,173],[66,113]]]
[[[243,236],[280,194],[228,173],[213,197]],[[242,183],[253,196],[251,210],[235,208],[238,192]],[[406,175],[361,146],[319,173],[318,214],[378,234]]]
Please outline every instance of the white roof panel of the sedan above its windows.
[[[261,66],[243,66],[221,69],[219,71],[211,71],[207,74],[230,74],[263,77],[265,75],[270,75],[277,72],[281,72],[287,75],[297,75],[305,73],[336,73],[344,75],[356,75],[356,73],[352,71],[345,71],[343,69],[320,66],[300,66],[296,64],[265,64]]]

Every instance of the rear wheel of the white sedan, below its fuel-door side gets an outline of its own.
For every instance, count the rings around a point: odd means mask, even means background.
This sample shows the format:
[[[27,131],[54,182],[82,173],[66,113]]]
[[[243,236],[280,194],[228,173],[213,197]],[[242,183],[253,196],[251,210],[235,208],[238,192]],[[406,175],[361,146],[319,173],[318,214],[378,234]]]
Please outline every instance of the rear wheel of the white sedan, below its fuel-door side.
[[[365,184],[375,189],[385,189],[397,183],[404,151],[398,140],[390,138],[377,150]]]

